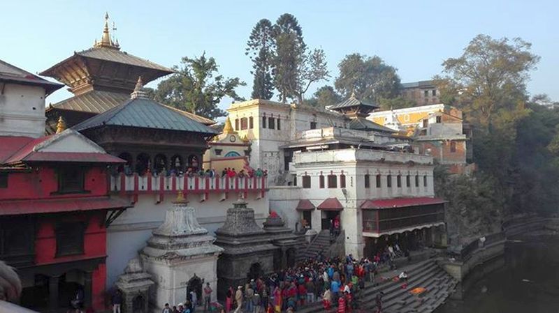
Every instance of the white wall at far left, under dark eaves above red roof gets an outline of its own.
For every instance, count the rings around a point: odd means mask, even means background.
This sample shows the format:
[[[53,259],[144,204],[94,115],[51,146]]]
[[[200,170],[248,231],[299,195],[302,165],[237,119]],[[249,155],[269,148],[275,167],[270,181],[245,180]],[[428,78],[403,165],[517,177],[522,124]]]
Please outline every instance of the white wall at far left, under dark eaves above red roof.
[[[0,136],[45,135],[45,89],[19,84],[0,88]]]

